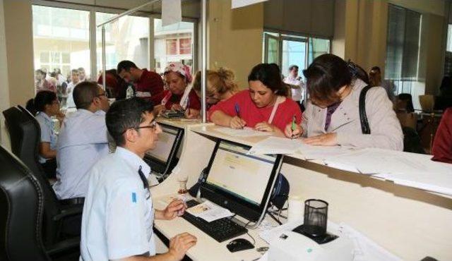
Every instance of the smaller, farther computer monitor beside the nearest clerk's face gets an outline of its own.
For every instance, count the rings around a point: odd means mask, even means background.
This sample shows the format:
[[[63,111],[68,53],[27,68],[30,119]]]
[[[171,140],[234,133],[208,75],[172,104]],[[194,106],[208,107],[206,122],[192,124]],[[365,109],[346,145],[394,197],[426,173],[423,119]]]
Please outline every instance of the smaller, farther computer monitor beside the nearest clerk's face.
[[[172,169],[179,161],[178,152],[181,147],[184,129],[159,123],[162,133],[153,150],[145,153],[144,160],[149,164],[152,171],[161,178],[171,174]]]

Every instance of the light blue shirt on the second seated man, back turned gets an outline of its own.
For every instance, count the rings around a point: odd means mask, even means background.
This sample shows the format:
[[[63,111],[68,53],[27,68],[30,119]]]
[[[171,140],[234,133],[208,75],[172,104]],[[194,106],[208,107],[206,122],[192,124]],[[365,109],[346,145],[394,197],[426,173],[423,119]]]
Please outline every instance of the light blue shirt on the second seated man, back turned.
[[[108,154],[105,112],[78,109],[61,127],[57,142],[57,182],[59,199],[83,198],[88,189],[88,171]]]

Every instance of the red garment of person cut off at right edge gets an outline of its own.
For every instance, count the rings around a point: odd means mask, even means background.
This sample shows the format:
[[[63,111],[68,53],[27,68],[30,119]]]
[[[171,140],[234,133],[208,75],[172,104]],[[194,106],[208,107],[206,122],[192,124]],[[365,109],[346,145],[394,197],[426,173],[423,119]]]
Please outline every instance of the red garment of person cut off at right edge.
[[[432,160],[452,163],[452,108],[444,111],[432,147]]]

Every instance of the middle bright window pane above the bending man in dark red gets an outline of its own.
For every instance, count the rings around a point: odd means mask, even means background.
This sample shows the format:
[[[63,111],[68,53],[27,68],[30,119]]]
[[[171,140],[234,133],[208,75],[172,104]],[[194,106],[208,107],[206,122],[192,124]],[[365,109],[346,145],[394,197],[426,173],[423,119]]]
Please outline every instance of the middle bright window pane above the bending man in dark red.
[[[96,13],[96,23],[116,16],[114,13]],[[102,70],[102,30],[97,28],[97,71]],[[149,18],[124,16],[105,25],[105,66],[117,68],[119,61],[133,61],[138,68],[149,67]]]

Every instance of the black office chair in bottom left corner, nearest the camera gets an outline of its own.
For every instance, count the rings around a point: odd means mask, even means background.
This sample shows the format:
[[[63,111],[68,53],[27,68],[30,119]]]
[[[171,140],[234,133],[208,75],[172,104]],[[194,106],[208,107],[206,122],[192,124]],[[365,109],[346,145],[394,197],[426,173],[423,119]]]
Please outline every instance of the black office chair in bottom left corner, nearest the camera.
[[[44,246],[42,216],[46,202],[35,175],[0,146],[0,260],[76,260],[79,238]]]

